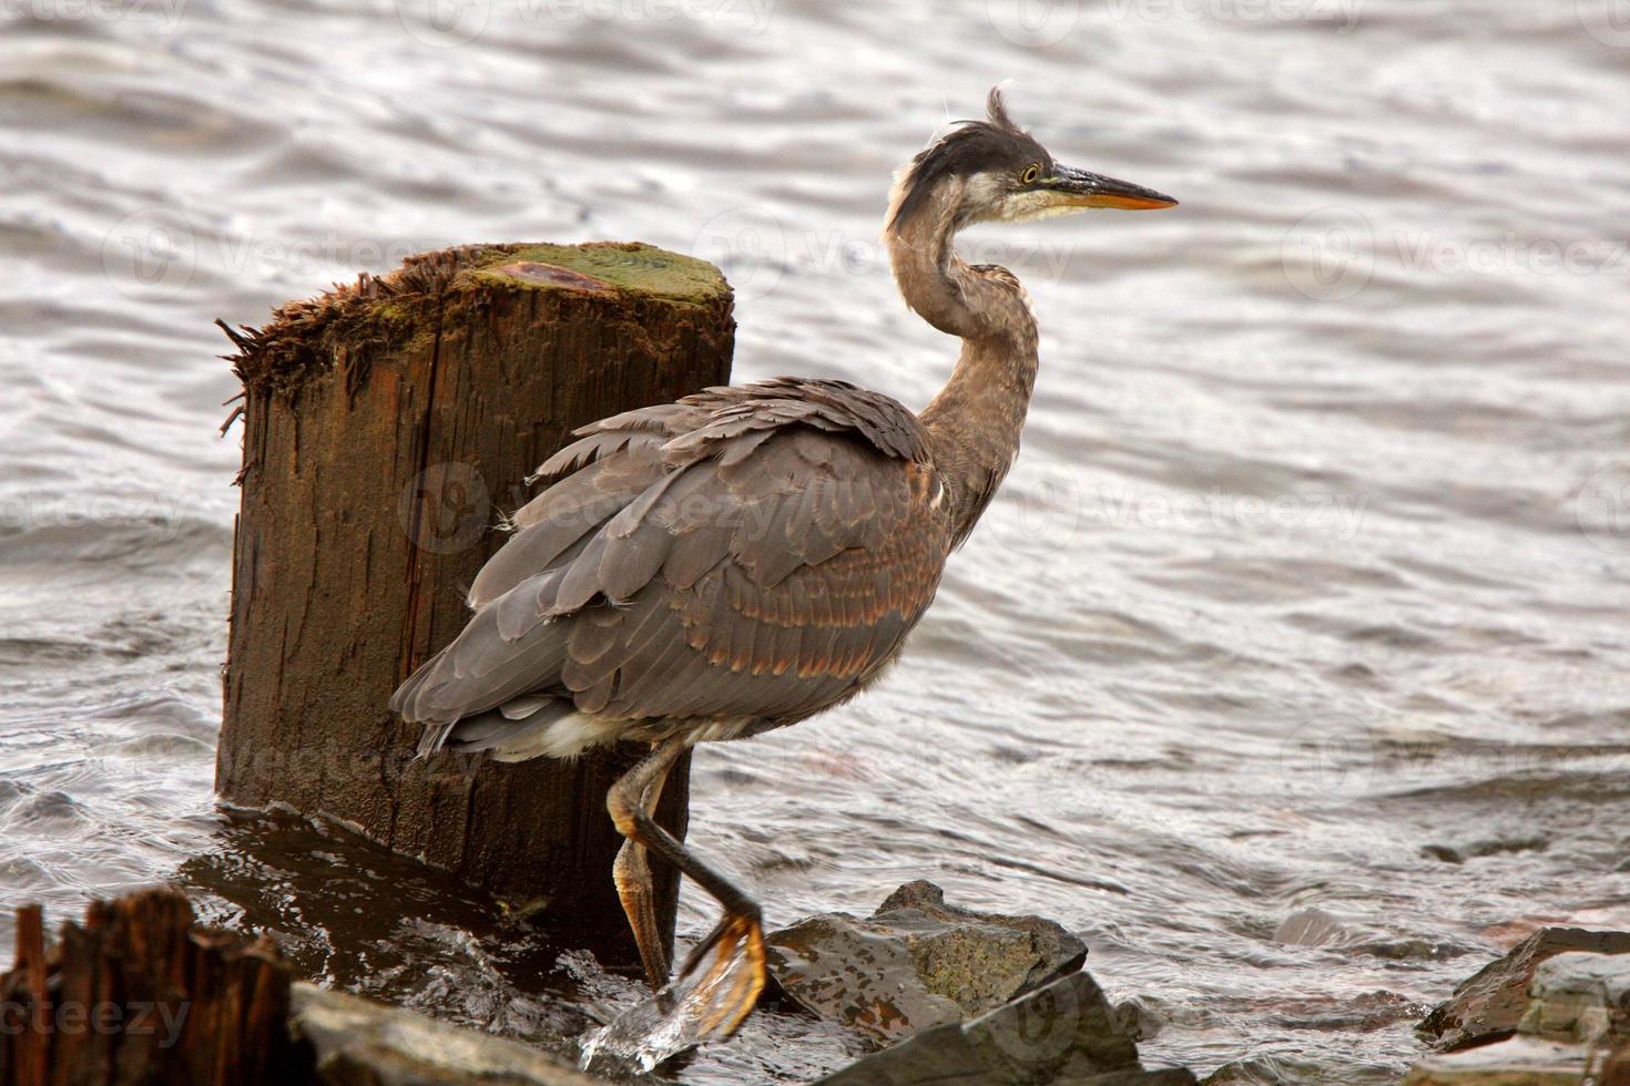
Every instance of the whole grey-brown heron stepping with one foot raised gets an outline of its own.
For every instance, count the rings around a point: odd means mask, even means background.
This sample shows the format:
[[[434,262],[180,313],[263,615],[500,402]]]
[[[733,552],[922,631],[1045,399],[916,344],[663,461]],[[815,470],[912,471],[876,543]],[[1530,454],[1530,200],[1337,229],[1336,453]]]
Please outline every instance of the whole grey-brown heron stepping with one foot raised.
[[[577,430],[469,591],[469,625],[391,708],[419,751],[650,754],[606,808],[628,840],[618,894],[652,987],[668,979],[647,850],[724,905],[680,977],[712,990],[699,1034],[729,1034],[764,983],[760,907],[652,819],[691,744],[797,723],[866,689],[900,655],[1019,451],[1037,324],[1012,272],[954,236],[1092,207],[1177,200],[1071,169],[1015,125],[999,91],[901,169],[883,241],[906,304],[962,339],[921,414],[843,381],[714,388]],[[740,969],[730,962],[747,961]],[[725,975],[732,977],[725,985]]]

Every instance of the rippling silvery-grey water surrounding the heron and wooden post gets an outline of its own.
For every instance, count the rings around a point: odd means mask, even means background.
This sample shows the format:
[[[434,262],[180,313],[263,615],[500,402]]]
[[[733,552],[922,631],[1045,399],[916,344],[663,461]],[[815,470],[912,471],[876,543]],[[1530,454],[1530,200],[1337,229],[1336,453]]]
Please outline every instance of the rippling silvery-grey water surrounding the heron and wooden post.
[[[634,998],[214,809],[210,321],[637,238],[730,274],[740,378],[921,404],[955,345],[893,293],[888,173],[1007,77],[1061,160],[1183,205],[967,238],[1040,313],[1019,467],[883,687],[698,757],[693,842],[773,922],[911,878],[1055,917],[1149,1058],[1250,1081],[1389,1081],[1526,925],[1630,923],[1612,0],[0,3],[0,904],[179,873],[313,975],[513,1036]],[[673,1075],[848,1052],[755,1016]]]

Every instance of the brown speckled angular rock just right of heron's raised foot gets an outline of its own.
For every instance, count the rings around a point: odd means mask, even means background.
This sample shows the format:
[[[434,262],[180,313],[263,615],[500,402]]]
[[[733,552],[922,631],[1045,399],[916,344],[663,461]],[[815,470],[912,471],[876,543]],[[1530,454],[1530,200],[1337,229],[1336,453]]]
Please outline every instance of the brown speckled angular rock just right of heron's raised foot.
[[[921,881],[867,920],[825,913],[769,936],[769,970],[787,998],[877,1044],[998,1008],[1074,974],[1086,954],[1051,920],[947,905]]]

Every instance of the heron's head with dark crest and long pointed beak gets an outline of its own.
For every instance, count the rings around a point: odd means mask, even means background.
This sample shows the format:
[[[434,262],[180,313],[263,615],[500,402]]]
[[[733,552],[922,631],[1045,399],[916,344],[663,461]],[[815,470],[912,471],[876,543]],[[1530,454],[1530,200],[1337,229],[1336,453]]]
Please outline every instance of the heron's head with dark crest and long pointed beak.
[[[963,120],[901,171],[888,230],[934,217],[954,230],[973,223],[1022,223],[1094,207],[1152,210],[1177,200],[1126,181],[1064,166],[1007,116],[991,90],[985,120]]]

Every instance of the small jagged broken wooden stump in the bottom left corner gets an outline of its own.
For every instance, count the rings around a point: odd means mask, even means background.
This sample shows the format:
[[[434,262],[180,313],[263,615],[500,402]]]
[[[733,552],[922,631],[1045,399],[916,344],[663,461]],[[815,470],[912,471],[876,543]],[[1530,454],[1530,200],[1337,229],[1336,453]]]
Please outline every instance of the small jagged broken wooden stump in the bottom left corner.
[[[271,939],[196,928],[174,891],[91,902],[49,954],[24,905],[0,977],[0,1084],[306,1081],[290,980]]]

